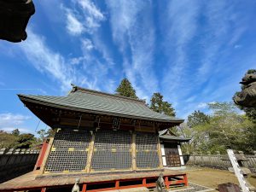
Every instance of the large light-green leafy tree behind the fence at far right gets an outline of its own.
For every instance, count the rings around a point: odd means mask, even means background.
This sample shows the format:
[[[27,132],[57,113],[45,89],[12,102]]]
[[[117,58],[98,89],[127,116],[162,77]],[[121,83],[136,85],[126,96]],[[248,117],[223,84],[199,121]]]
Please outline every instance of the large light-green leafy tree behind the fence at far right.
[[[216,102],[209,104],[212,117],[208,126],[208,148],[223,151],[227,148],[252,152],[255,144],[253,122],[245,115],[238,113],[232,102]]]

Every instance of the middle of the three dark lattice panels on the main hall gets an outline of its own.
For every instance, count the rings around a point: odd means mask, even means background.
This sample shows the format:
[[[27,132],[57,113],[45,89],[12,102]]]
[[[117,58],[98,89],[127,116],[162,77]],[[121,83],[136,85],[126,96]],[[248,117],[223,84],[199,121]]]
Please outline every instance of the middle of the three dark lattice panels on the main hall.
[[[91,168],[94,171],[131,169],[131,132],[96,132]]]

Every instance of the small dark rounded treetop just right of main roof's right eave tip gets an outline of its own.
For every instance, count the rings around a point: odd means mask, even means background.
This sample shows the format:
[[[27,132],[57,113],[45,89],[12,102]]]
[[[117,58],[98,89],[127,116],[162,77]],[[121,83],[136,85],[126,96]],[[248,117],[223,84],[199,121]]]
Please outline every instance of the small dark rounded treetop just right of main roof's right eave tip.
[[[201,111],[195,111],[188,116],[189,127],[195,127],[197,125],[203,125],[210,122],[209,115],[202,113]]]

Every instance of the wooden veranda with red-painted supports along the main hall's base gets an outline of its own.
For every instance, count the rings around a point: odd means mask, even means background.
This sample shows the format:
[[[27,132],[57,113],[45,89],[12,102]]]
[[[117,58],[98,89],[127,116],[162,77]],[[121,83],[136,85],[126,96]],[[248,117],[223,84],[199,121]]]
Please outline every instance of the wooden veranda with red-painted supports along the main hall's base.
[[[80,174],[63,175],[51,177],[38,177],[39,172],[29,172],[8,182],[0,184],[0,191],[55,191],[55,189],[71,189],[76,177],[80,178],[81,191],[97,192],[111,189],[128,189],[137,187],[151,188],[160,172],[130,172],[130,173],[109,173],[106,174]],[[170,185],[188,185],[188,178],[185,172],[164,170],[166,188]]]

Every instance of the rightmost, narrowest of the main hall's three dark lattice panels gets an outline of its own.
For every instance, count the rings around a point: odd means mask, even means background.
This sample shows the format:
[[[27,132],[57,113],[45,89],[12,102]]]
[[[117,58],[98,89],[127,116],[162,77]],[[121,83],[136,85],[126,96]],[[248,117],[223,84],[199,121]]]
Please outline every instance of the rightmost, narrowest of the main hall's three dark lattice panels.
[[[158,168],[160,166],[157,144],[158,136],[154,133],[137,132],[137,168]]]

